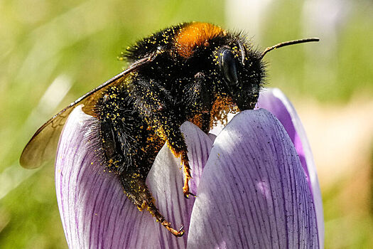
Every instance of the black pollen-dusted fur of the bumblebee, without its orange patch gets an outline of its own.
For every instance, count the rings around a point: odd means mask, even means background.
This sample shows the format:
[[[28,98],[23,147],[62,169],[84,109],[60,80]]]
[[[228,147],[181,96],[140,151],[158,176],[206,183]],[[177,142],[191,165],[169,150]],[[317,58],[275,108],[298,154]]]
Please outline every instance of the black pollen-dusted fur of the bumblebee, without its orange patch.
[[[145,180],[163,144],[188,164],[180,125],[189,120],[208,132],[212,119],[220,118],[213,110],[219,98],[232,100],[240,110],[254,108],[264,81],[260,54],[239,33],[222,32],[193,47],[188,57],[180,55],[175,38],[188,25],[193,23],[166,28],[129,47],[122,58],[130,63],[151,60],[108,88],[95,106],[107,166],[119,175],[126,195],[139,207],[151,206],[153,213],[158,210]],[[236,63],[237,85],[225,81],[223,49],[234,53],[230,63]],[[164,221],[159,213],[156,218]]]

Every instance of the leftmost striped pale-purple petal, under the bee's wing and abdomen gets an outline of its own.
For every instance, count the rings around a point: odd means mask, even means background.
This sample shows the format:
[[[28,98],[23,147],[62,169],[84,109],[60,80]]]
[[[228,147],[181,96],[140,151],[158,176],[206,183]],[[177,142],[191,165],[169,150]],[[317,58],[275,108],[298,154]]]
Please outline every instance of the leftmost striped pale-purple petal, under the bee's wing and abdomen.
[[[81,107],[70,114],[58,145],[55,184],[69,248],[148,248],[156,223],[123,193],[117,176],[99,164],[97,120]],[[137,237],[138,239],[133,239]]]

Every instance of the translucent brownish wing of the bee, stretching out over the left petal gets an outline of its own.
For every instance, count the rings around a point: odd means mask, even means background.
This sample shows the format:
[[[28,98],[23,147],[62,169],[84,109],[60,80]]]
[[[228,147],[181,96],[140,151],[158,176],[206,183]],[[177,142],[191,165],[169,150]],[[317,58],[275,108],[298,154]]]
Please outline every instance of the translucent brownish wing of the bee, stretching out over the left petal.
[[[82,108],[88,115],[93,115],[92,107],[94,107],[97,100],[102,97],[104,90],[112,85],[121,83],[132,71],[139,68],[139,66],[147,63],[153,58],[149,55],[146,58],[137,60],[135,63],[130,65],[130,67],[119,75],[114,76],[107,82],[99,85],[99,87],[94,88],[94,90],[87,92],[85,95],[72,102],[65,109],[58,112],[57,115],[52,117],[50,120],[45,122],[42,127],[40,127],[33,137],[31,137],[26,147],[23,149],[19,163],[21,166],[27,169],[35,169],[54,160],[55,151],[57,149],[58,140],[60,139],[60,133],[62,132],[63,125],[65,124],[67,117],[70,112],[74,110],[77,105],[84,105]]]

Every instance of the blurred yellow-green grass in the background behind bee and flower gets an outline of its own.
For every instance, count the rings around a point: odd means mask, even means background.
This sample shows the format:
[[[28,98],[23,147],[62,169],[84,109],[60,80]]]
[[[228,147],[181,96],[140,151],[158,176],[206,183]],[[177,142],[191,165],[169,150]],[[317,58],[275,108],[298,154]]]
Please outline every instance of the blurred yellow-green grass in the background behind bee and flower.
[[[225,26],[225,3],[219,1],[0,1],[0,172],[18,166],[33,132],[58,110],[121,71],[116,60],[137,39],[183,21]],[[373,6],[358,1],[340,28],[330,60],[320,59],[320,43],[279,49],[266,55],[270,86],[327,105],[347,102],[358,92],[373,92]],[[302,2],[273,2],[264,21],[260,48],[318,33],[304,33]],[[255,34],[249,33],[249,37]],[[253,39],[255,41],[255,39]],[[258,41],[256,41],[258,42]],[[71,85],[61,102],[39,105],[56,78]],[[58,99],[58,95],[56,95]],[[39,105],[39,106],[38,106]],[[30,172],[19,167],[20,177]],[[13,176],[13,174],[11,174]],[[15,186],[16,181],[8,182]],[[1,183],[1,184],[4,184]],[[13,185],[12,185],[13,184]],[[325,248],[337,243],[340,222],[352,222],[349,245],[369,248],[372,210],[344,219],[336,196],[345,186],[323,189]],[[1,196],[1,193],[0,193]],[[55,198],[53,166],[44,167],[0,199],[0,248],[65,248]],[[370,212],[370,213],[369,213]],[[331,225],[330,225],[331,224]],[[334,225],[333,225],[334,224]],[[348,227],[348,224],[345,224]],[[342,233],[345,235],[345,233]]]

